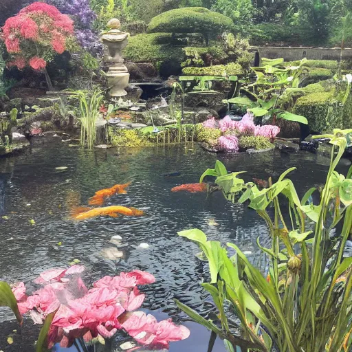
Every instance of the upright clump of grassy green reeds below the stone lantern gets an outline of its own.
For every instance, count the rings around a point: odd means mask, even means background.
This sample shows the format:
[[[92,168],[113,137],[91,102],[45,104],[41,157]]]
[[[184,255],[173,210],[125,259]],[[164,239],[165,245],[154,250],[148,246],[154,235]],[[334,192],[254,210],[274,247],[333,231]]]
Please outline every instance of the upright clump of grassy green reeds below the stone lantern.
[[[104,99],[102,91],[71,91],[69,98],[78,99],[80,104],[80,144],[93,148],[96,142],[96,120]]]

